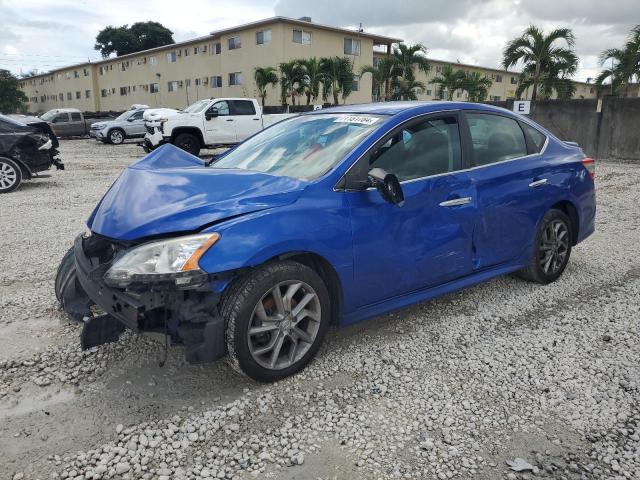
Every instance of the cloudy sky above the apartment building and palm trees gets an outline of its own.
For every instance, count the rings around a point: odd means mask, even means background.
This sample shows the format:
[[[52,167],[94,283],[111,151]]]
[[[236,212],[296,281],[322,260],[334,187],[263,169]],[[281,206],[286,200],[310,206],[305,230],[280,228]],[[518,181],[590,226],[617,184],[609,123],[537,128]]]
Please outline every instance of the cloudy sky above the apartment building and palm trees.
[[[434,59],[499,67],[505,44],[530,24],[576,36],[576,80],[597,76],[599,53],[640,23],[638,0],[0,0],[0,68],[44,72],[98,60],[107,25],[154,20],[182,41],[274,15],[422,43]]]

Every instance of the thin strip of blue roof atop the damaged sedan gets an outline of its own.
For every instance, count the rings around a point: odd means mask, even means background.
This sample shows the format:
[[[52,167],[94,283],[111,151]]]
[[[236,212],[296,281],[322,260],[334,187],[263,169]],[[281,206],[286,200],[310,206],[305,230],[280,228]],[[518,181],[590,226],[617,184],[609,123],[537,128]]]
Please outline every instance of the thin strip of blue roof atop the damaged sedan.
[[[484,103],[472,102],[379,102],[379,103],[363,103],[354,105],[341,105],[338,107],[323,108],[310,112],[311,114],[321,113],[349,113],[358,115],[399,115],[402,113],[412,112],[416,114],[439,112],[442,110],[485,110],[489,112],[508,112],[504,108],[486,105]]]

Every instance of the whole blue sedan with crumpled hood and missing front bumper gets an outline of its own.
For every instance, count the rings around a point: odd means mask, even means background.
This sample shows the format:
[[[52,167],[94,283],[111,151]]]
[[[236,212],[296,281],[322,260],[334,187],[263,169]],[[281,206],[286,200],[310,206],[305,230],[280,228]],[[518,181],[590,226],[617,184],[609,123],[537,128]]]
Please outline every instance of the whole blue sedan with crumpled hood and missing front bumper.
[[[513,272],[553,282],[595,228],[594,161],[487,105],[330,108],[210,163],[163,146],[98,203],[56,280],[85,347],[167,332],[189,362],[278,380],[332,323]]]

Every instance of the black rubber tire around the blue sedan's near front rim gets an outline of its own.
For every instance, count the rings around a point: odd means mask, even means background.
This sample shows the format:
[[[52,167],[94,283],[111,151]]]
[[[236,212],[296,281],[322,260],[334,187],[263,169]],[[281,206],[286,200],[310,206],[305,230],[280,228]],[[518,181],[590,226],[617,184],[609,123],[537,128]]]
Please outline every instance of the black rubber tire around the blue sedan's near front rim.
[[[317,333],[300,359],[286,368],[265,368],[256,361],[249,348],[248,330],[252,315],[258,302],[262,302],[274,286],[279,285],[280,282],[289,281],[303,282],[317,295],[321,308]],[[298,262],[268,263],[237,279],[225,293],[221,308],[225,320],[229,364],[236,371],[260,382],[274,382],[299,372],[311,361],[322,345],[330,323],[330,303],[329,293],[322,278],[314,270]]]

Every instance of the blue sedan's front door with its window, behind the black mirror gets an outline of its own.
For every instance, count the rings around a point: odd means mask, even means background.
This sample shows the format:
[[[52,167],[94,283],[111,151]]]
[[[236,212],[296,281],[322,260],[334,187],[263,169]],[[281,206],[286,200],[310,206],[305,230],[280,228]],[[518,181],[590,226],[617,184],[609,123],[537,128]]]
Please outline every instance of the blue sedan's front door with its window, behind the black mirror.
[[[465,161],[459,115],[452,112],[408,122],[350,170],[364,178],[376,167],[394,173],[404,193],[402,206],[372,188],[347,193],[356,306],[471,273],[476,208]]]

